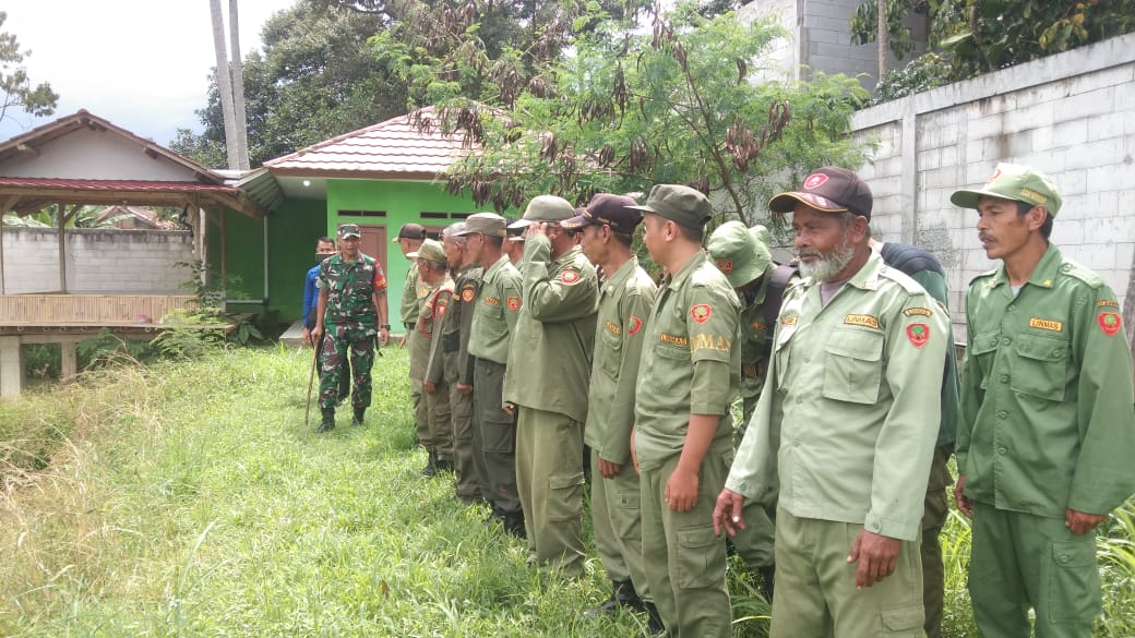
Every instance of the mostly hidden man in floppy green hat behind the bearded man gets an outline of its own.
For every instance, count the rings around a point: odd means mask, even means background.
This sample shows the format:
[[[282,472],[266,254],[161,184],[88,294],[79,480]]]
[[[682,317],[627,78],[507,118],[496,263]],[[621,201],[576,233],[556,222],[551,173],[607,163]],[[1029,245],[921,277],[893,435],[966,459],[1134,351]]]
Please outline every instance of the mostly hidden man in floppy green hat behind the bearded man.
[[[741,443],[745,425],[756,408],[760,387],[768,369],[768,341],[772,331],[766,319],[765,296],[776,265],[762,237],[763,226],[746,228],[740,221],[726,221],[709,235],[706,249],[714,265],[733,286],[741,301],[741,397],[745,421],[734,433],[734,444]],[[779,301],[774,300],[773,302]],[[779,308],[775,309],[779,311]],[[765,598],[773,599],[775,556],[773,555],[773,521],[771,509],[757,502],[745,504],[746,528],[733,537],[733,547],[749,569],[759,573]]]

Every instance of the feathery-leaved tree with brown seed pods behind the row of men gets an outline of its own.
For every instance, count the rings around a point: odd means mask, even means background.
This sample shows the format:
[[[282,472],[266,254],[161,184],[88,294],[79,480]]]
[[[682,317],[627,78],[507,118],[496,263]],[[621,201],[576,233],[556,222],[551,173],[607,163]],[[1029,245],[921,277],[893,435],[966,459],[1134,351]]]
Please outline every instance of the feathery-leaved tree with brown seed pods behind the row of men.
[[[858,166],[850,117],[867,94],[854,78],[765,79],[766,54],[787,34],[773,23],[707,19],[689,7],[650,33],[599,20],[574,54],[530,82],[512,108],[456,98],[440,126],[480,145],[455,165],[449,190],[519,207],[541,193],[592,193],[683,183],[715,195],[726,217],[754,223],[768,196],[825,163]]]

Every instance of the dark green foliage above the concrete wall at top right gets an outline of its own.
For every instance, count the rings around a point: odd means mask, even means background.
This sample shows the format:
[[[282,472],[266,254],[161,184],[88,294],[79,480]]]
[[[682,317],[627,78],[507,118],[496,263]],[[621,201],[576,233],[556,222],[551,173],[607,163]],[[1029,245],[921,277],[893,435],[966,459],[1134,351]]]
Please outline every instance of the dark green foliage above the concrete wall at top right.
[[[948,82],[1027,62],[1135,31],[1135,0],[888,0],[888,43],[914,48],[902,20],[928,15],[932,50],[949,57]],[[874,42],[877,2],[851,15],[851,42]]]

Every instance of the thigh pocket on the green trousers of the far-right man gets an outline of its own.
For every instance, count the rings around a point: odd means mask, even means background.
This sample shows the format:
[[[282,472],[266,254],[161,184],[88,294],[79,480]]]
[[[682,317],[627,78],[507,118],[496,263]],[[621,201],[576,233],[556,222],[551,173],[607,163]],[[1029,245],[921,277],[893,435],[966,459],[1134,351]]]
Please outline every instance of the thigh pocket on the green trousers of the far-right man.
[[[1091,622],[1102,611],[1100,572],[1095,566],[1095,536],[1052,543],[1048,570],[1049,619]]]

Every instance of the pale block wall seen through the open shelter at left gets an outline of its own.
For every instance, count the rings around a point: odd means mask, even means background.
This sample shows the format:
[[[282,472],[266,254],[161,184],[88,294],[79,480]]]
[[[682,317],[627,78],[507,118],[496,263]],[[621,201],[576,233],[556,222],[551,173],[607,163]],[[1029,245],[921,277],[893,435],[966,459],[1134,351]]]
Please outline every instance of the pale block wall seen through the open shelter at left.
[[[59,230],[3,229],[6,294],[59,291]],[[65,240],[67,292],[187,294],[193,237],[182,230],[69,228]]]

